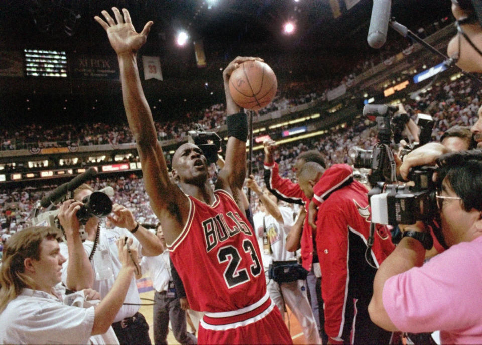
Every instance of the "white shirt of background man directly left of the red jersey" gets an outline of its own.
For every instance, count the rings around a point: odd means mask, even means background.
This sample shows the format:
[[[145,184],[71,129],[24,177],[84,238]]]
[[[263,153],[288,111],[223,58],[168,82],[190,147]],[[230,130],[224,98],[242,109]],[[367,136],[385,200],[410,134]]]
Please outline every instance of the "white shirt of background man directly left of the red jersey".
[[[168,250],[158,256],[144,256],[140,265],[142,273],[151,277],[152,286],[157,292],[167,291],[169,280],[172,280]]]

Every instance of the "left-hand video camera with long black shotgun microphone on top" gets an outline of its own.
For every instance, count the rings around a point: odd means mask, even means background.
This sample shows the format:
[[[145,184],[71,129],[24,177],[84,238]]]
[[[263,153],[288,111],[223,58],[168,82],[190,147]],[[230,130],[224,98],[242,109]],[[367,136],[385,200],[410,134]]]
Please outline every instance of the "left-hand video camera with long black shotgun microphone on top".
[[[66,200],[68,197],[72,197],[72,192],[79,187],[82,183],[92,179],[97,174],[97,171],[90,168],[86,172],[76,176],[70,182],[64,183],[52,192],[42,198],[40,206],[47,208],[43,213],[39,212],[39,207],[34,210],[34,216],[32,218],[32,226],[52,226],[60,229],[63,232],[63,228],[57,218],[59,209],[51,211],[52,206]],[[114,191],[112,187],[106,187],[99,191],[95,191],[92,194],[82,199],[83,205],[77,211],[77,218],[81,225],[85,225],[91,217],[103,218],[112,212],[112,201],[109,196],[113,196]],[[84,239],[86,234],[81,234],[81,238]]]

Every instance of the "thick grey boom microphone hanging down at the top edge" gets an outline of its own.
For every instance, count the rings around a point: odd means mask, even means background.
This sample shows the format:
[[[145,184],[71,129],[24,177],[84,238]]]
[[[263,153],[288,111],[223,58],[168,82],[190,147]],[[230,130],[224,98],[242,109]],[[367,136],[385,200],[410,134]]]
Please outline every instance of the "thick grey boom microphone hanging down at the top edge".
[[[391,7],[391,0],[373,0],[372,17],[367,36],[368,45],[372,48],[381,48],[387,40]]]

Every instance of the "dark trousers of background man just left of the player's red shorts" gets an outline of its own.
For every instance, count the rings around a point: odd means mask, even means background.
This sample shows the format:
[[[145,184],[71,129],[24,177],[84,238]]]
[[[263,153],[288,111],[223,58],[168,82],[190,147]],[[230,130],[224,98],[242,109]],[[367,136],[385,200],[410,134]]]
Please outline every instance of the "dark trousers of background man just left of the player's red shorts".
[[[168,324],[171,320],[172,333],[181,345],[197,344],[197,338],[187,332],[186,311],[181,309],[179,298],[168,298],[166,292],[154,294],[153,326],[155,345],[167,345]]]

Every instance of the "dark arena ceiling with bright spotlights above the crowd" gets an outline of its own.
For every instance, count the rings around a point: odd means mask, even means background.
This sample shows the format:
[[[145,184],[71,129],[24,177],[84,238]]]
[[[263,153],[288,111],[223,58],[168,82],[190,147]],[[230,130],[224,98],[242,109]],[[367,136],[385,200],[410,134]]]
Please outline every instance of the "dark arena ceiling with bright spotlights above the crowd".
[[[355,5],[348,10],[346,4],[350,2]],[[211,0],[1,0],[0,52],[56,50],[66,51],[68,57],[91,54],[115,60],[105,32],[93,17],[112,6],[125,7],[138,31],[148,20],[154,21],[139,55],[160,57],[164,81],[160,84],[146,80],[144,89],[149,103],[163,112],[223,102],[220,70],[238,55],[263,57],[273,67],[279,84],[287,85],[308,79],[340,80],[364,56],[378,54],[367,44],[373,0],[210,3]],[[330,3],[340,6],[341,15],[336,19]],[[450,0],[392,0],[392,15],[416,31],[421,23],[451,17]],[[296,23],[292,35],[283,34],[287,20]],[[184,47],[175,43],[181,29],[189,35]],[[395,37],[399,39],[397,35],[389,30],[387,44]],[[197,68],[193,42],[201,39],[207,65]],[[1,64],[2,59],[0,68]],[[206,83],[208,87],[204,86]],[[74,117],[79,107],[85,112],[92,112],[94,107],[97,111],[101,99],[116,97],[120,101],[119,91],[118,80],[0,78],[0,108],[4,114],[17,114],[17,109],[24,108],[33,112],[38,107],[32,103],[45,99],[47,105],[41,114],[64,113],[66,107],[65,111],[73,109]],[[83,105],[78,105],[81,100]],[[72,105],[50,109],[48,104],[59,102]],[[39,112],[36,117],[39,118]]]

